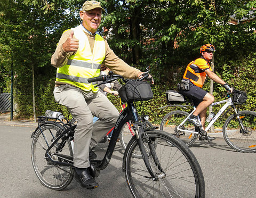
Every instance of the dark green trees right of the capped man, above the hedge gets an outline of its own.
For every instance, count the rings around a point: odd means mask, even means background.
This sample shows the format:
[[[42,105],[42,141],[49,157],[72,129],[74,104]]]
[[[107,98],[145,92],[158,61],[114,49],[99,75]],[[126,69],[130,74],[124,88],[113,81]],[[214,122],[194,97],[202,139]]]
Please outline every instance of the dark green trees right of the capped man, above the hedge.
[[[114,52],[139,68],[154,65],[157,79],[170,85],[177,84],[173,73],[182,73],[203,44],[217,46],[217,69],[255,50],[255,22],[229,23],[230,16],[250,19],[255,1],[111,0],[104,6],[102,26]]]

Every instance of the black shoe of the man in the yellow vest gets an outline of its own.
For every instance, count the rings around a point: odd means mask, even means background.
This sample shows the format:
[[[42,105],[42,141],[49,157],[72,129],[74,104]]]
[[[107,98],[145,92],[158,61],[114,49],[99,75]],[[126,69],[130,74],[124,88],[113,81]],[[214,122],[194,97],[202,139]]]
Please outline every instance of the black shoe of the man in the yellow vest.
[[[75,179],[81,184],[81,186],[87,189],[98,187],[98,183],[90,175],[88,168],[86,168],[80,175],[77,175],[77,172],[75,171]]]

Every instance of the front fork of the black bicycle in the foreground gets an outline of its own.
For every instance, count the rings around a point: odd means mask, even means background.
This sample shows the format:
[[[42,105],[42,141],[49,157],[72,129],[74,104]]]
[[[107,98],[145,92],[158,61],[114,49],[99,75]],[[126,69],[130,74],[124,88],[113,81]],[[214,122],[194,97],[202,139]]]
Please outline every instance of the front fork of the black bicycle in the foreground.
[[[145,165],[147,167],[147,170],[148,170],[152,180],[153,181],[157,181],[159,178],[166,177],[166,174],[165,174],[164,170],[162,169],[162,167],[161,167],[161,165],[159,163],[159,160],[158,160],[158,158],[156,156],[154,145],[150,142],[149,137],[147,136],[147,134],[144,133],[143,126],[139,127],[139,130],[138,130],[138,125],[135,125],[134,127],[137,128],[137,129],[134,130],[135,131],[135,135],[137,137],[137,142],[138,142],[138,145],[139,145],[139,148],[140,148],[140,151],[141,151],[141,155],[142,155],[143,161],[144,161],[144,163],[145,163]],[[160,171],[159,174],[155,174],[154,171],[151,168],[151,165],[150,165],[150,162],[149,162],[149,156],[148,156],[148,154],[147,154],[147,152],[145,150],[145,146],[143,144],[143,139],[145,139],[145,142],[149,145],[149,150],[150,150],[150,152],[152,154],[154,163],[155,163],[157,169]]]

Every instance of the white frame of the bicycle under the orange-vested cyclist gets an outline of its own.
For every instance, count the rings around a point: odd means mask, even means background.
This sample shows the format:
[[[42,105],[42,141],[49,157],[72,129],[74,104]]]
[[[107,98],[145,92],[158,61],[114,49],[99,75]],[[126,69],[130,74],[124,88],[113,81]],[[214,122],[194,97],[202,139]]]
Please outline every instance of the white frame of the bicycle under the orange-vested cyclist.
[[[212,103],[211,105],[214,106],[214,105],[218,105],[218,104],[222,104],[222,103],[226,103],[225,105],[222,106],[222,108],[218,111],[218,113],[214,116],[214,118],[209,122],[209,125],[205,128],[205,131],[207,132],[211,126],[214,124],[214,122],[220,117],[220,115],[230,106],[230,105],[233,105],[233,101],[232,101],[232,98],[228,98],[227,100],[223,100],[223,101],[220,101],[220,102],[215,102],[215,103]],[[180,127],[187,121],[187,119],[189,118],[189,116],[194,113],[196,110],[195,106],[194,106],[194,110],[188,115],[187,118],[185,118],[185,120],[183,120],[180,125],[177,127],[177,129],[179,131],[182,131],[182,132],[189,132],[189,133],[194,133],[194,134],[198,134],[197,131],[191,131],[191,130],[186,130],[186,129],[181,129]],[[236,111],[236,110],[235,110]],[[237,112],[235,112],[237,114]],[[197,116],[197,119],[199,122],[200,119],[199,119],[199,116]]]

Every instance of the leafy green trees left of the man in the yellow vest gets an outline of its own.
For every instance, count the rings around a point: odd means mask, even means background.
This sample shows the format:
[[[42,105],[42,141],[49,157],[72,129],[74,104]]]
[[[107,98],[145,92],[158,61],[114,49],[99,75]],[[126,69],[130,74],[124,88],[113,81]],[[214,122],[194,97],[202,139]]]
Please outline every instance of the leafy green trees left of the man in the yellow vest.
[[[79,23],[75,16],[81,4],[82,1],[70,0],[5,0],[0,4],[0,55],[4,57],[1,65],[10,70],[13,63],[20,116],[34,114],[35,118],[36,111],[42,113],[36,109],[42,87],[55,76],[51,55],[62,31]]]

